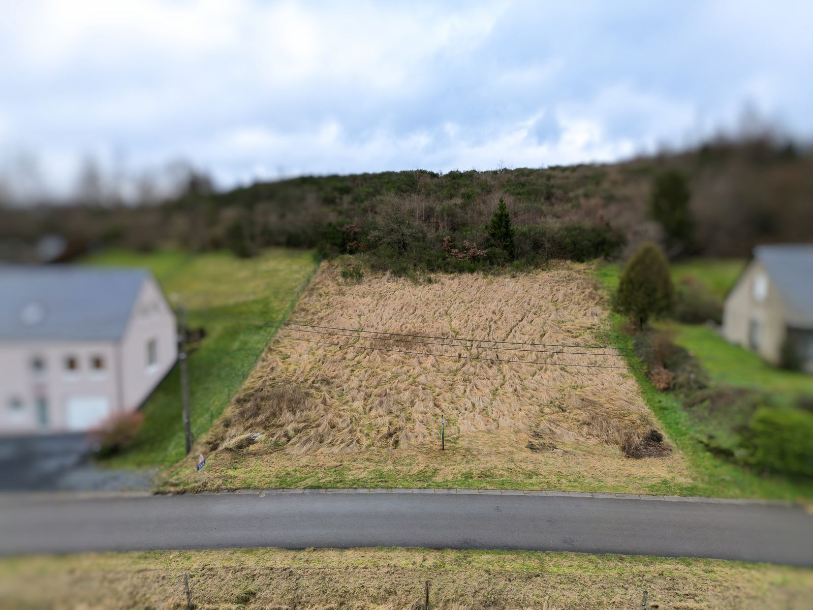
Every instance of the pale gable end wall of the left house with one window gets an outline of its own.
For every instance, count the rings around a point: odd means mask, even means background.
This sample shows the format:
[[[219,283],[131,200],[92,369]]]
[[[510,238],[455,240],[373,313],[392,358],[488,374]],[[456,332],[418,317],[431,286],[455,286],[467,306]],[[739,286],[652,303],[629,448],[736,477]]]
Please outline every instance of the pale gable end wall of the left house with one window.
[[[148,344],[155,342],[155,362],[148,362]],[[137,409],[178,357],[176,318],[159,285],[141,286],[120,344],[122,398],[126,411]]]

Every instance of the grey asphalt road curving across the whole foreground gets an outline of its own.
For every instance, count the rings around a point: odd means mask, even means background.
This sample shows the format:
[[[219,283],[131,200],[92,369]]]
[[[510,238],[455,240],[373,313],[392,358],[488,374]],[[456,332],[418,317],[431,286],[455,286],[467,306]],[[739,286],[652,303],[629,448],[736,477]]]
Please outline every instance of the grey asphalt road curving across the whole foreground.
[[[802,508],[522,492],[0,495],[0,554],[223,547],[449,547],[813,565]]]

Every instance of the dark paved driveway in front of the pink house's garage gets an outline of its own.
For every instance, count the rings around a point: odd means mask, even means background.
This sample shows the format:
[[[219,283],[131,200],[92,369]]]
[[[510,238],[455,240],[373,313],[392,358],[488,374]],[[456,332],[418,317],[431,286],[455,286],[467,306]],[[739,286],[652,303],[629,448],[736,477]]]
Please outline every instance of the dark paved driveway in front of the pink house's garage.
[[[146,490],[151,470],[114,470],[93,463],[85,434],[0,437],[0,491]]]

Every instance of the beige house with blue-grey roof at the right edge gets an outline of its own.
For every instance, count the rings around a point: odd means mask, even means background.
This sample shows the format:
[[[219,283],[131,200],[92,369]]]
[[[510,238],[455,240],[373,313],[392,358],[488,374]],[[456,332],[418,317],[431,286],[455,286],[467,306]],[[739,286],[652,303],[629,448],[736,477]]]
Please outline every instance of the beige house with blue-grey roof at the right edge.
[[[771,364],[813,373],[813,245],[757,246],[725,299],[723,334]]]

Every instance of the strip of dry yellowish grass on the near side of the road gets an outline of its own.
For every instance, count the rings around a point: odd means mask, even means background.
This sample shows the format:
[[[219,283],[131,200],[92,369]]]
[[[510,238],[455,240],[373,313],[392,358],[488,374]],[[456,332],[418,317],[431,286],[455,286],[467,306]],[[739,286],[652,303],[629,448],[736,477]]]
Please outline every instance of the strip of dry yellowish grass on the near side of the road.
[[[0,560],[0,608],[809,608],[813,570],[527,551],[154,551]]]

